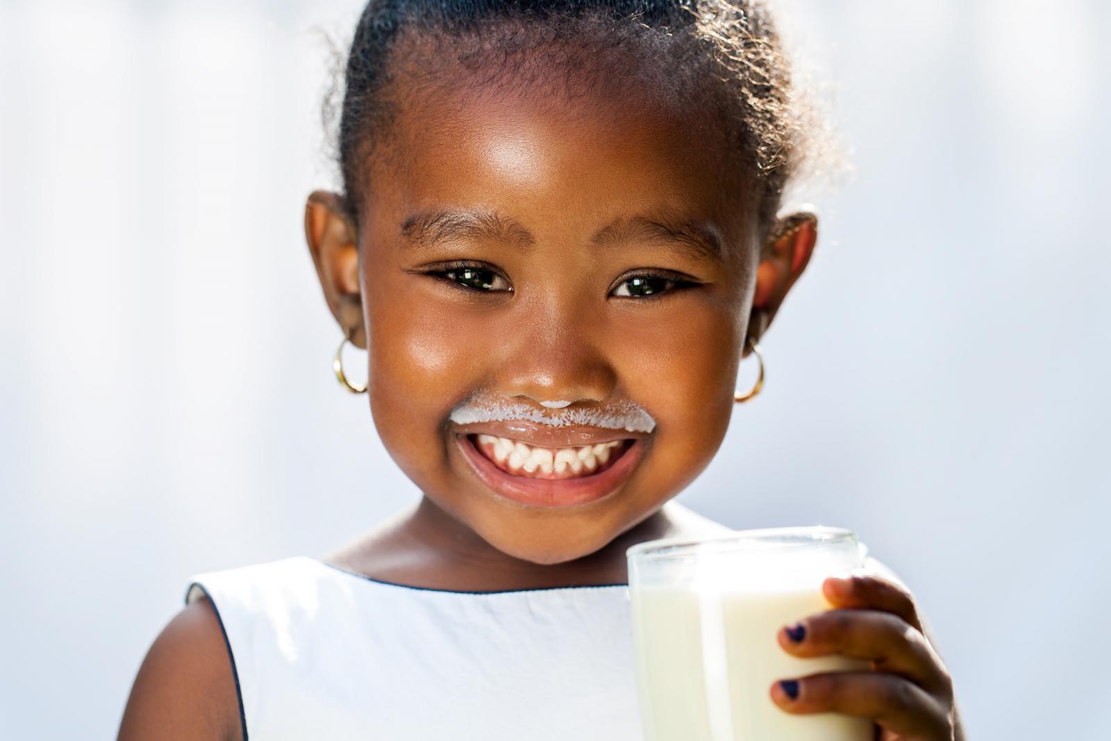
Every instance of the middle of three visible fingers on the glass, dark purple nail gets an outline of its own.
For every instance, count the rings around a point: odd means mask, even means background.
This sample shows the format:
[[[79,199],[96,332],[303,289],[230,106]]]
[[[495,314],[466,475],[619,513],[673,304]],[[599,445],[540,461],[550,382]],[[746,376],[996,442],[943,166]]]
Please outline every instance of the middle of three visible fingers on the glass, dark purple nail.
[[[779,644],[800,658],[840,654],[899,674],[931,692],[948,687],[941,659],[921,631],[878,610],[830,610],[779,631]]]

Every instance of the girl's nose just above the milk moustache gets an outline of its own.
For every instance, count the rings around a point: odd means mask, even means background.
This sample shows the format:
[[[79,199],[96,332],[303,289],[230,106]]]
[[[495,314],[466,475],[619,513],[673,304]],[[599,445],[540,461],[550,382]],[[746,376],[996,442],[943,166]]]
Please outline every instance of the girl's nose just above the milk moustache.
[[[605,328],[598,312],[567,300],[530,303],[514,312],[512,329],[502,334],[508,341],[498,358],[498,387],[537,402],[609,398],[618,375],[607,357]]]

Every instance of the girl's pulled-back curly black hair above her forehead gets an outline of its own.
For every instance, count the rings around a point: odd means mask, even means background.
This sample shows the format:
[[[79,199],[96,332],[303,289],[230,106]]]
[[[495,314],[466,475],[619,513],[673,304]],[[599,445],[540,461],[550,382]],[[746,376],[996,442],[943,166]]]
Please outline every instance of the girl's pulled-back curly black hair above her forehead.
[[[621,84],[652,81],[662,94],[711,107],[734,134],[735,161],[754,183],[758,233],[767,233],[805,131],[759,0],[370,0],[347,54],[342,100],[332,103],[350,217],[358,221],[366,163],[389,151],[392,117],[408,96],[451,84],[451,64],[483,82],[536,89],[552,83],[543,74],[552,62],[567,94],[603,84],[602,70],[622,64]]]

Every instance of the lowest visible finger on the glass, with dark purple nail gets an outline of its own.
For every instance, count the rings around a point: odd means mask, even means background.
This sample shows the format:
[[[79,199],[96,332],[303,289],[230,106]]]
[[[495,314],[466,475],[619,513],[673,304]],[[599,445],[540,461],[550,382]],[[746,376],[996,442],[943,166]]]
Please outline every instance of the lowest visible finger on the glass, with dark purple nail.
[[[811,674],[775,682],[772,700],[789,713],[838,712],[871,718],[881,728],[915,741],[952,738],[948,713],[922,688],[879,672]]]

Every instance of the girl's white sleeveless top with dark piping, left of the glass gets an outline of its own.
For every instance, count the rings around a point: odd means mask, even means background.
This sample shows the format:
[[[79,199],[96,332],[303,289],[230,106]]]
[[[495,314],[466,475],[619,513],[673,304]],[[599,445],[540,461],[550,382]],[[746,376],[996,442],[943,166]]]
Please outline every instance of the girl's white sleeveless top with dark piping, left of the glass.
[[[629,588],[453,592],[298,555],[197,574],[250,741],[640,741]]]

